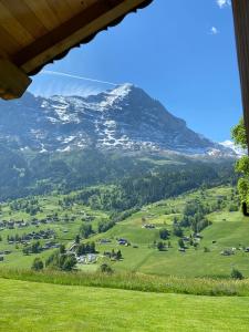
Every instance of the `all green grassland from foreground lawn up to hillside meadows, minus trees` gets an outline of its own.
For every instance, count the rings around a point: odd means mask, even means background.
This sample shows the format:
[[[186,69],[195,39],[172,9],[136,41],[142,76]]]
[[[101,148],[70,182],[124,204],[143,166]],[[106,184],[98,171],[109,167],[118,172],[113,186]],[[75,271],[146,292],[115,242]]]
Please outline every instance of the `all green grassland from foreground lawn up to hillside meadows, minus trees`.
[[[104,232],[97,231],[98,222],[112,220],[110,211],[79,201],[61,204],[75,194],[23,199],[22,208],[15,201],[1,205],[0,220],[6,224],[1,224],[0,251],[10,253],[0,262],[0,331],[249,330],[249,222],[240,211],[231,211],[238,201],[234,188],[193,190],[143,206]],[[208,225],[195,238],[196,246],[185,240],[181,252],[179,239],[194,236],[193,229],[183,227],[179,237],[174,227],[193,201],[210,208],[205,216]],[[30,207],[37,210],[31,212]],[[92,225],[94,230],[81,242],[95,242],[96,261],[77,263],[77,271],[70,273],[30,270],[35,257],[45,261],[56,249],[24,255],[27,245],[18,242],[17,235],[50,229],[52,238],[39,239],[41,245],[53,241],[69,249],[82,225]],[[159,251],[163,228],[169,238]],[[129,246],[120,245],[121,238]],[[231,249],[232,255],[221,255]],[[104,255],[112,250],[121,250],[122,259]],[[103,262],[114,273],[100,272]],[[246,278],[231,280],[232,268]]]

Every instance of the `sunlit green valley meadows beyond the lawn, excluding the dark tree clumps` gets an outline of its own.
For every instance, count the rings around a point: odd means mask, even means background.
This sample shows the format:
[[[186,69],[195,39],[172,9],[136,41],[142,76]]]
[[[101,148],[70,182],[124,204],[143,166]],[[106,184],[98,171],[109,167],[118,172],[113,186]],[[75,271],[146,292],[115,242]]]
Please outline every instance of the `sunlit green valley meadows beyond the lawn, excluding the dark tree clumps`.
[[[228,278],[235,267],[245,277],[249,276],[249,252],[246,252],[249,247],[249,224],[238,210],[238,197],[229,186],[191,190],[175,198],[145,205],[137,211],[129,211],[128,217],[123,216],[124,220],[121,221],[107,210],[96,210],[83,204],[63,206],[62,201],[68,201],[69,197],[75,195],[79,193],[38,196],[33,201],[22,199],[3,204],[1,220],[6,224],[1,221],[0,252],[3,261],[0,267],[29,269],[35,257],[45,262],[51,252],[58,250],[56,245],[65,245],[69,249],[80,235],[81,242],[94,242],[96,248],[92,262],[77,263],[76,268],[82,271],[97,271],[101,264],[107,263],[116,272]],[[207,227],[195,232],[189,226],[180,226],[180,220],[183,222],[186,206],[200,200],[204,206],[209,207],[210,212],[205,215]],[[28,208],[19,209],[18,204]],[[29,206],[34,208],[32,215],[27,211]],[[100,232],[100,224],[107,225],[108,228],[110,220],[115,220],[114,218],[117,221],[106,231]],[[87,239],[81,232],[82,225],[91,225],[92,234]],[[180,236],[174,232],[176,227],[181,229]],[[167,229],[169,234],[165,239],[160,238],[162,229]],[[51,238],[44,239],[42,235],[48,230],[51,231]],[[30,234],[34,238],[21,241],[17,237]],[[124,239],[125,242],[118,243],[118,239]],[[183,251],[179,251],[180,239],[186,248]],[[23,249],[37,241],[41,245],[41,252],[25,255]],[[163,250],[158,250],[160,241],[165,246]],[[113,250],[121,250],[122,259],[116,260],[107,255]],[[10,253],[4,255],[4,251]]]

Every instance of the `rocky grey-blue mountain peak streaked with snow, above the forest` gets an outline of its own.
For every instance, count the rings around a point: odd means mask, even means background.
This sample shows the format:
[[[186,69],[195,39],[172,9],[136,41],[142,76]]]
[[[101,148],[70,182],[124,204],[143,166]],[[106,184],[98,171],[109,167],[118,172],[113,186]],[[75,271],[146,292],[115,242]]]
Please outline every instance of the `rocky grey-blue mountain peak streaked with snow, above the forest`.
[[[125,151],[173,151],[232,155],[186,126],[158,101],[132,84],[97,95],[0,102],[0,142],[40,153],[86,146]]]

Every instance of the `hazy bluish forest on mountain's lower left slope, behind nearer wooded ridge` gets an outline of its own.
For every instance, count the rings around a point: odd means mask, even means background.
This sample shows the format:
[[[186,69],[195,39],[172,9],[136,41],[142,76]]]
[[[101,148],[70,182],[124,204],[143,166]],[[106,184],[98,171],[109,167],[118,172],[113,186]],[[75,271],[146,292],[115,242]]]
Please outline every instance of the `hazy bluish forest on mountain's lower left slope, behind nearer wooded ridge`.
[[[43,195],[52,190],[69,193],[82,187],[114,183],[128,174],[145,174],[151,163],[91,146],[71,153],[32,156],[0,144],[0,200]]]

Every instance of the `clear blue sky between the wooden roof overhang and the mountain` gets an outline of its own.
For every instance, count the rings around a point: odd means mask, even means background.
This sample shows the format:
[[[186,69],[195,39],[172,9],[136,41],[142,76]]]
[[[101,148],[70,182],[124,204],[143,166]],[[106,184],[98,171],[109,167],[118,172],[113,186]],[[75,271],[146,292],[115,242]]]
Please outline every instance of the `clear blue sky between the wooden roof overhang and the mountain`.
[[[154,0],[46,71],[131,82],[194,131],[225,141],[242,113],[229,0]],[[40,73],[34,94],[90,94],[112,85]]]

